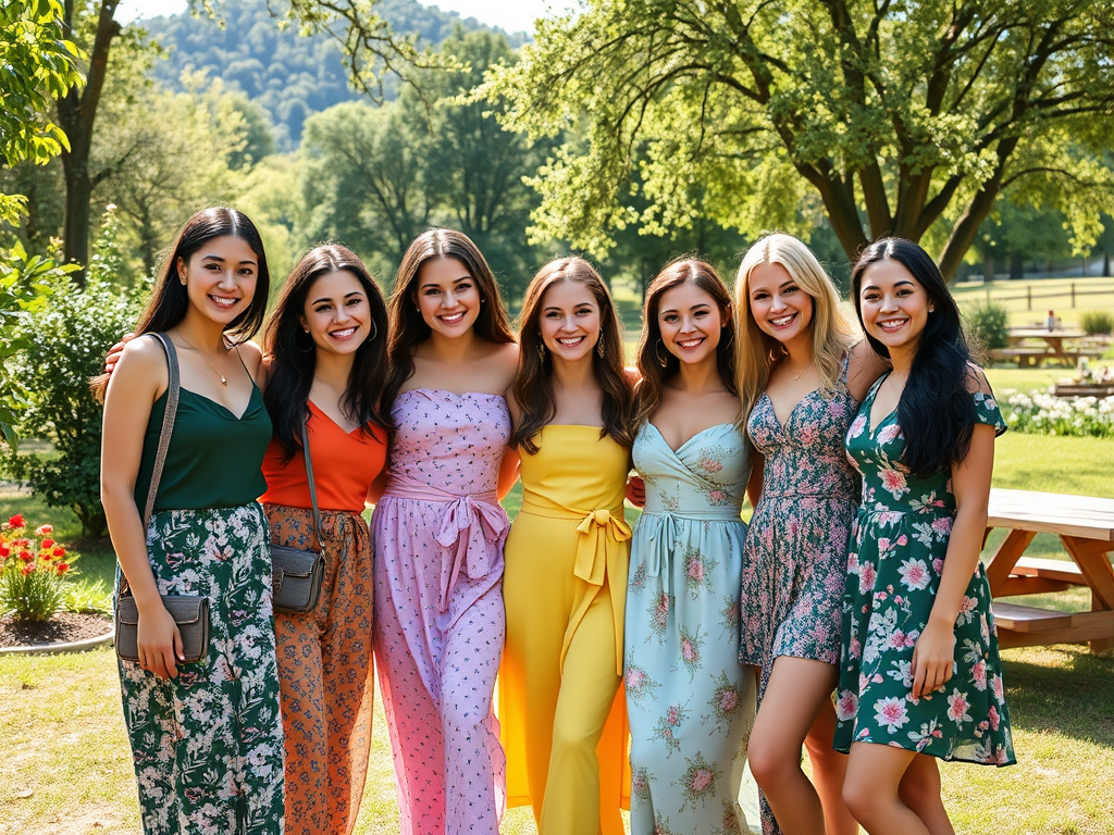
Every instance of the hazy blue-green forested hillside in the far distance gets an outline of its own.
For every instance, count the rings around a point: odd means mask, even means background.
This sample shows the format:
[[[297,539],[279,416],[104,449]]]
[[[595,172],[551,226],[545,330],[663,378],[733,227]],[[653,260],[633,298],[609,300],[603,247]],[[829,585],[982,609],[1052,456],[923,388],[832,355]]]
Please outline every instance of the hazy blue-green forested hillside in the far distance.
[[[172,89],[179,89],[178,79],[189,69],[224,79],[266,110],[275,126],[275,143],[284,150],[301,141],[306,118],[342,101],[364,98],[362,87],[377,97],[398,96],[398,77],[379,72],[383,62],[373,53],[374,48],[394,55],[393,32],[414,33],[417,50],[421,45],[439,45],[461,23],[456,14],[413,0],[374,4],[242,0],[214,6],[214,10],[215,17],[183,12],[147,22],[150,33],[169,50],[167,60],[156,66],[155,77]],[[286,26],[276,26],[273,13]],[[473,20],[461,24],[479,28]],[[356,89],[349,84],[353,72],[362,85]]]

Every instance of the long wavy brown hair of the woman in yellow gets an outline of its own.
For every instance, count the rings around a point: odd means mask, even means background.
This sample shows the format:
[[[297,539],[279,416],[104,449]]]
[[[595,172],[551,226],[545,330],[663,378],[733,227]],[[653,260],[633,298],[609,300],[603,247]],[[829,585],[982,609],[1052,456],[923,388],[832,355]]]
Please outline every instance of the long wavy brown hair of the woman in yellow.
[[[554,399],[554,364],[548,351],[539,353],[541,340],[541,311],[546,292],[559,282],[587,287],[599,307],[599,342],[604,355],[595,346],[592,351],[592,370],[604,393],[604,426],[600,438],[610,435],[617,443],[629,448],[634,443],[634,389],[623,370],[623,331],[612,294],[599,273],[584,258],[558,258],[546,264],[530,281],[519,316],[518,371],[515,374],[515,400],[522,411],[518,429],[510,439],[511,446],[519,446],[531,455],[538,451],[538,431],[548,424],[557,412]]]

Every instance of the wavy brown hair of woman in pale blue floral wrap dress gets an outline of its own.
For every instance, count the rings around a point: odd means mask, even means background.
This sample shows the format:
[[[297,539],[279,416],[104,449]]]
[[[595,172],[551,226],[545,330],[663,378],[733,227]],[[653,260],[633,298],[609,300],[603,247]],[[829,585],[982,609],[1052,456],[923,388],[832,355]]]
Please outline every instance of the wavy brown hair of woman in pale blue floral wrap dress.
[[[723,328],[715,347],[715,364],[724,389],[737,394],[735,384],[735,317],[731,315],[731,293],[711,264],[685,258],[668,264],[646,288],[642,311],[642,338],[638,341],[638,373],[642,380],[635,391],[635,425],[642,425],[662,402],[665,381],[681,370],[681,361],[668,350],[658,348],[662,328],[657,324],[662,296],[682,284],[692,283],[707,293],[720,308]],[[664,365],[662,361],[664,362]]]

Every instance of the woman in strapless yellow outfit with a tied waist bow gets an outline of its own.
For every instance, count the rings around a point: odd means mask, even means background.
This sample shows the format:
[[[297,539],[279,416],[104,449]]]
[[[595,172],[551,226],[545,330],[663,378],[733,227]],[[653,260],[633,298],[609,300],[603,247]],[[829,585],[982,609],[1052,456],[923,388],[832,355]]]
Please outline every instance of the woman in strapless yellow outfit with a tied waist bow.
[[[540,835],[622,835],[632,383],[610,295],[583,258],[541,268],[520,322],[507,400],[522,507],[507,539],[499,677],[508,805],[532,806]]]

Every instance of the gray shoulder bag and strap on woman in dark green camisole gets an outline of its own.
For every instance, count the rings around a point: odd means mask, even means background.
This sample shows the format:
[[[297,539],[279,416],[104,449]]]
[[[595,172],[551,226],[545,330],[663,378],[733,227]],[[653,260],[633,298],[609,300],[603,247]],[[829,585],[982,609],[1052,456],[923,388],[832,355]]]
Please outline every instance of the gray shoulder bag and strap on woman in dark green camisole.
[[[158,439],[158,452],[155,455],[155,469],[150,474],[150,487],[147,489],[147,508],[143,515],[144,536],[155,510],[155,495],[158,493],[158,482],[163,478],[163,466],[166,464],[166,453],[170,446],[170,433],[174,431],[174,419],[178,412],[180,382],[178,379],[178,355],[174,343],[165,333],[152,334],[163,345],[166,352],[166,364],[169,381],[166,389],[166,411],[163,414],[163,432]],[[182,636],[182,652],[185,664],[194,664],[205,658],[208,652],[208,598],[201,595],[163,595],[163,606],[170,612],[174,622],[178,625]],[[116,599],[116,655],[125,661],[138,661],[137,648],[139,636],[139,609],[136,599],[128,589],[127,578],[120,583],[120,593]]]

